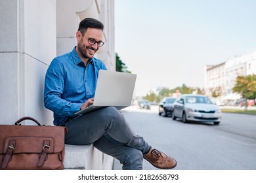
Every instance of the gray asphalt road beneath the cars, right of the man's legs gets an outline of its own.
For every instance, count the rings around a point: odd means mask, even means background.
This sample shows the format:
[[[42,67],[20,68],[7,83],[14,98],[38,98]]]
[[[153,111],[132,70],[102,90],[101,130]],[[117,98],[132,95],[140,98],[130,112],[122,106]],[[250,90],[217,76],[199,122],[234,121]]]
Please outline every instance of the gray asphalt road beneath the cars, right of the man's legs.
[[[223,113],[219,125],[188,123],[158,115],[158,107],[125,108],[137,135],[177,159],[176,170],[255,170],[256,115]],[[121,169],[115,160],[114,169]],[[143,169],[156,169],[146,160]]]

